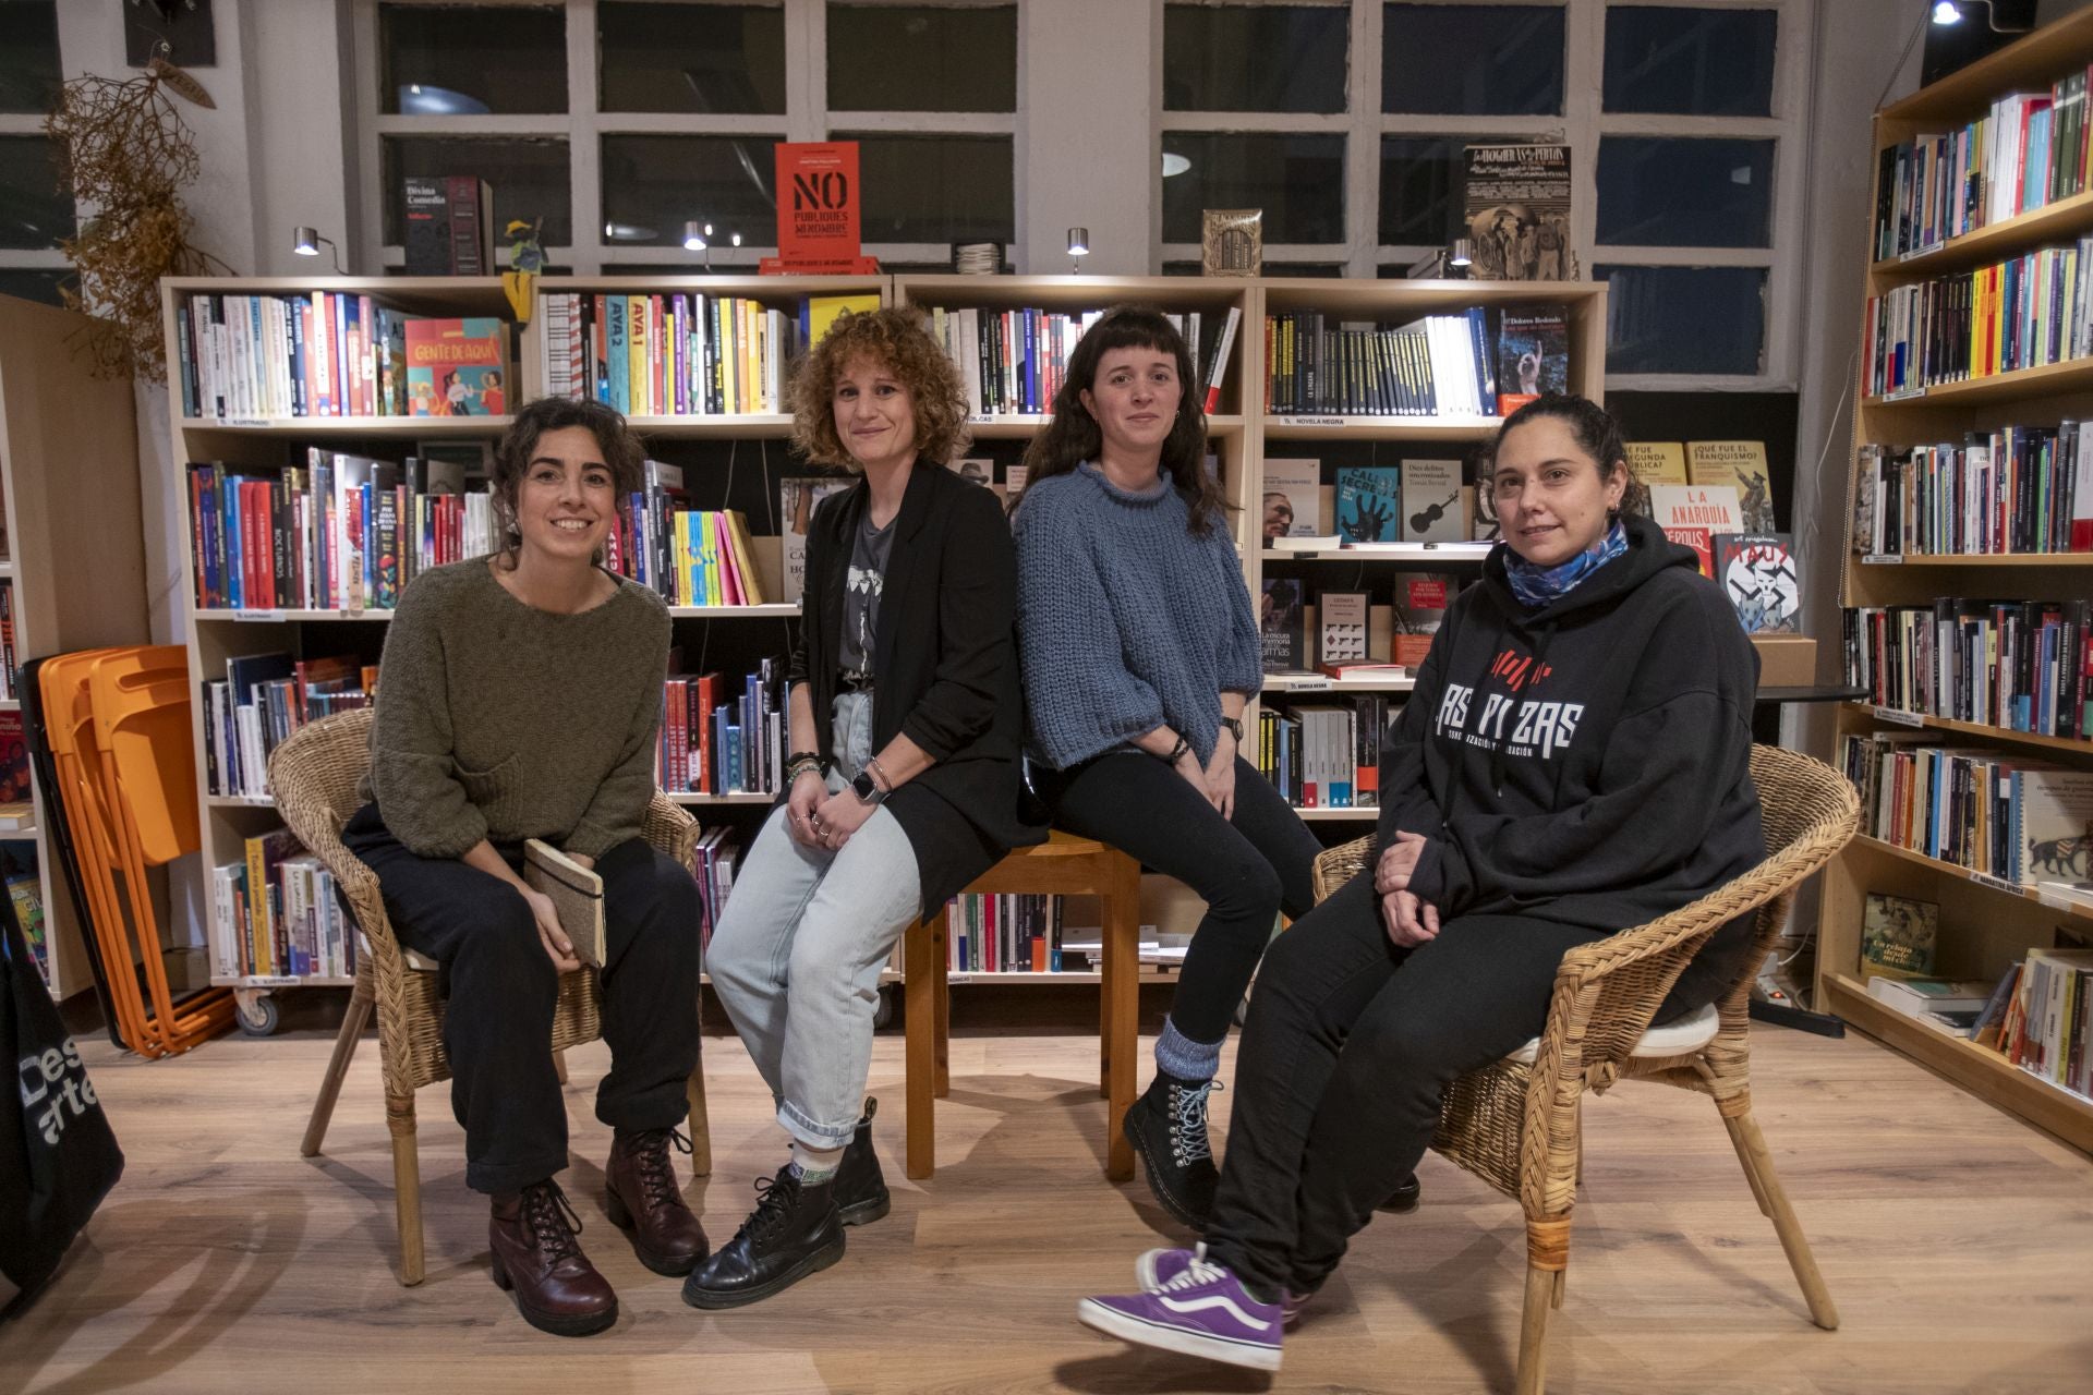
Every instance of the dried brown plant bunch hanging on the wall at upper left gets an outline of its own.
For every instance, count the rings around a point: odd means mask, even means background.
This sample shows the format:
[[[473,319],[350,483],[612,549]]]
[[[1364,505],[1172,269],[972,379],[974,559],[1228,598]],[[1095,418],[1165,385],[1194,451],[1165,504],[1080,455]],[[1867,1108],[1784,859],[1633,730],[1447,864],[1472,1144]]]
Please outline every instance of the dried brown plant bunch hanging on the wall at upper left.
[[[90,349],[105,379],[165,383],[159,278],[230,270],[188,243],[180,190],[197,178],[197,142],[161,88],[211,107],[195,77],[153,59],[126,82],[75,77],[44,121],[73,199],[90,209],[80,236],[59,247],[80,274],[77,287],[63,287],[65,301],[96,320]]]

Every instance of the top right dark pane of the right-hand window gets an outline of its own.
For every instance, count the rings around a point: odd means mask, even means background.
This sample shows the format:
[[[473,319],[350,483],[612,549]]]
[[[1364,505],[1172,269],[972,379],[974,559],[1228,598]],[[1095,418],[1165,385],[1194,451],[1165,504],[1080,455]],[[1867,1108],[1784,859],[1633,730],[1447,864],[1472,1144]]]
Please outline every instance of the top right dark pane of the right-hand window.
[[[1616,4],[1605,13],[1605,109],[1773,115],[1779,10]]]

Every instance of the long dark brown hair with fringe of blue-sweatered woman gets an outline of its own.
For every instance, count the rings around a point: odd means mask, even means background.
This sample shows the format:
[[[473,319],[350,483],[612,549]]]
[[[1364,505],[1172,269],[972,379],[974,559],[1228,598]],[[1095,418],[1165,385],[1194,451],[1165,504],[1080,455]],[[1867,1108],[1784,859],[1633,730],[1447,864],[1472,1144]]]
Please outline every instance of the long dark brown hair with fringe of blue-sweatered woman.
[[[1206,404],[1199,399],[1191,351],[1185,349],[1185,337],[1176,333],[1176,326],[1151,305],[1109,310],[1076,341],[1076,351],[1067,360],[1067,379],[1053,397],[1053,420],[1026,448],[1026,491],[1030,494],[1032,485],[1042,479],[1067,475],[1084,460],[1097,460],[1105,437],[1097,429],[1097,418],[1082,406],[1082,393],[1097,385],[1097,362],[1113,349],[1157,349],[1176,360],[1185,393],[1178,397],[1176,420],[1164,439],[1162,464],[1170,471],[1170,487],[1185,498],[1185,508],[1191,510],[1189,531],[1206,535],[1233,504],[1220,491],[1220,479],[1206,471]]]

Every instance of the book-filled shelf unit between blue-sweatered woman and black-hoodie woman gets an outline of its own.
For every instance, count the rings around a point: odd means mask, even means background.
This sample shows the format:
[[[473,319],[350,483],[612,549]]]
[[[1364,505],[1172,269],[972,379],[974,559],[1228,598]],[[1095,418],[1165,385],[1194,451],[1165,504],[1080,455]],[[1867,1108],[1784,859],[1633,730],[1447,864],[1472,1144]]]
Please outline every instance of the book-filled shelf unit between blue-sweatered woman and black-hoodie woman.
[[[1260,280],[1245,556],[1252,761],[1325,841],[1377,816],[1381,736],[1494,525],[1482,452],[1538,391],[1603,399],[1605,287]]]

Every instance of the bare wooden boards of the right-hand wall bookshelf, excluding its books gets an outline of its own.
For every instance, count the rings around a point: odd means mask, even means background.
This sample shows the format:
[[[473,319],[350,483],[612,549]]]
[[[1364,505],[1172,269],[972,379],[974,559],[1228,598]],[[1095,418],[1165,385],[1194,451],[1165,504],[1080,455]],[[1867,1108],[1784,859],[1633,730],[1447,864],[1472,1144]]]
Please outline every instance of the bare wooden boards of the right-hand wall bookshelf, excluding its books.
[[[1884,107],[1873,123],[1873,151],[1919,134],[1953,132],[1986,113],[2009,92],[2047,90],[2051,82],[2093,63],[2093,10],[2078,10],[2001,48],[1978,63]],[[1873,163],[1873,161],[1871,161]],[[1880,182],[1880,174],[1877,174]],[[1877,190],[1880,192],[1880,190]],[[1875,199],[1869,199],[1869,251],[1875,251]],[[1884,295],[1928,276],[1988,266],[2093,234],[2093,192],[1993,222],[1926,251],[1871,261],[1863,293]],[[1865,318],[1863,318],[1865,333]],[[1961,441],[1965,431],[2001,425],[2055,425],[2093,414],[2093,360],[2024,368],[1995,376],[1909,389],[1890,397],[1865,395],[1854,410],[1848,496],[1859,481],[1861,448]],[[1923,607],[1936,596],[2011,600],[2083,600],[2093,594],[2093,554],[1898,554],[1875,556],[1856,548],[1852,510],[1840,577],[1844,607]],[[2030,757],[2072,768],[2093,768],[2093,742],[1974,726],[1938,715],[1917,715],[1846,703],[1838,711],[1840,740],[1886,730],[1936,730],[1953,747],[2003,757]],[[1863,814],[1863,826],[1865,824]],[[1861,956],[1861,918],[1869,893],[1890,893],[1940,906],[1934,973],[1949,979],[1999,979],[2030,947],[2051,945],[2060,924],[2093,933],[2087,912],[2049,901],[2034,887],[1978,876],[1886,841],[1861,834],[1825,870],[1817,945],[1817,1006],[1844,1016],[1915,1060],[1940,1071],[1993,1104],[2049,1129],[2078,1148],[2093,1150],[2093,1102],[2026,1075],[2005,1056],[1963,1037],[1894,1012],[1867,996]]]

